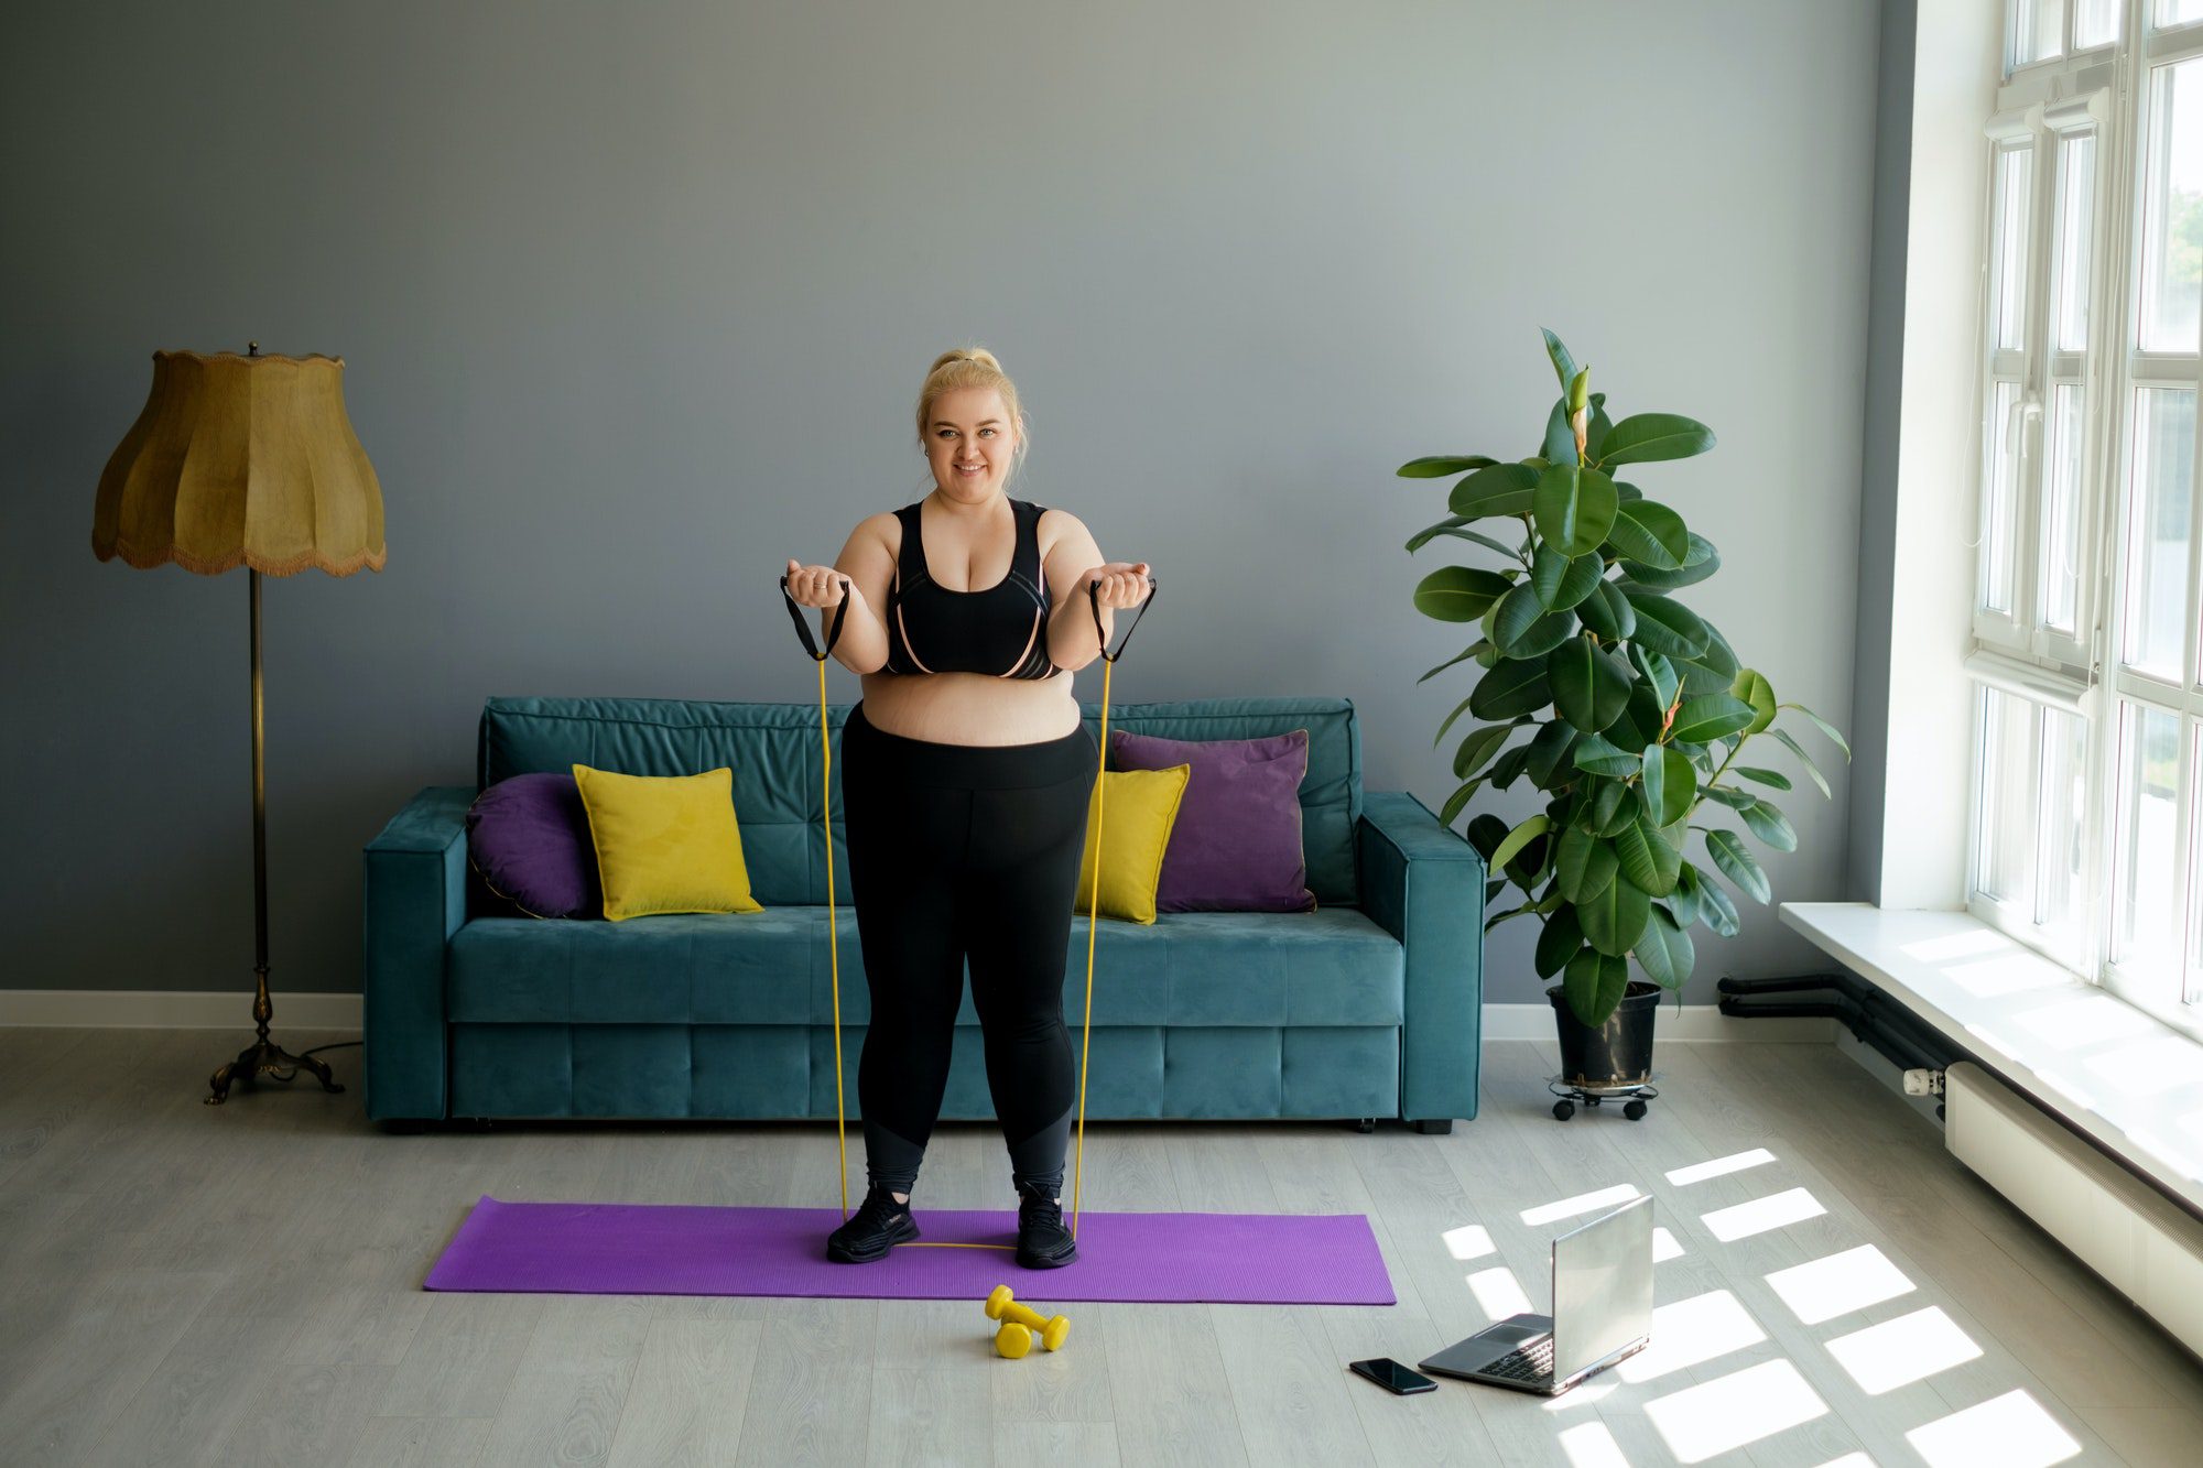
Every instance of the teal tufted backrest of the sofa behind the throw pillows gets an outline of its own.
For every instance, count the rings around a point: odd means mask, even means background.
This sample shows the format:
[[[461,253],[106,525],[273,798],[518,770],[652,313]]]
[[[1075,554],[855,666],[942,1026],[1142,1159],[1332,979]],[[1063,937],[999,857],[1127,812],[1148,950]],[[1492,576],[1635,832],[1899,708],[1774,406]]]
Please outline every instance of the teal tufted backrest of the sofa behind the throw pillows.
[[[828,747],[839,760],[846,703],[826,705]],[[1086,732],[1102,741],[1102,703],[1079,701]],[[1183,699],[1113,703],[1110,732],[1163,738],[1265,738],[1309,732],[1300,782],[1309,890],[1322,906],[1355,906],[1355,818],[1361,816],[1361,725],[1348,699]],[[833,791],[835,895],[848,895],[842,851],[842,778],[822,780],[817,703],[718,703],[705,699],[489,699],[476,741],[476,789],[529,771],[573,765],[672,776],[734,769],[742,813],[742,857],[751,897],[767,908],[826,906],[822,787]]]

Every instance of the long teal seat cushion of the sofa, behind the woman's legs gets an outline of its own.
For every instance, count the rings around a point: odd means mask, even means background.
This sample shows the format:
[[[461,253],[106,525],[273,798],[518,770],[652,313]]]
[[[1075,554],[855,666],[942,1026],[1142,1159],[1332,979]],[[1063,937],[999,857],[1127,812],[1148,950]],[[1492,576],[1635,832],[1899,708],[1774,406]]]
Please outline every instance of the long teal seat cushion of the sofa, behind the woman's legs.
[[[870,1021],[857,915],[837,908],[842,1025]],[[1071,919],[1064,1018],[1086,1014]],[[826,908],[668,913],[623,924],[478,917],[452,935],[449,1023],[833,1025]],[[1359,908],[1102,919],[1093,1023],[1401,1025],[1406,950]],[[958,1023],[976,1025],[969,974]]]

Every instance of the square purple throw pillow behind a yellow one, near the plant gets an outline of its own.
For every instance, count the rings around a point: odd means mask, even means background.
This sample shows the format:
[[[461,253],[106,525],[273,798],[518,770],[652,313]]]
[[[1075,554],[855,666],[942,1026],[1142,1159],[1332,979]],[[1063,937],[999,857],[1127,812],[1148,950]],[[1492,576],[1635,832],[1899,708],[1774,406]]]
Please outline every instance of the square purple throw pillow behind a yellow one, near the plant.
[[[1192,765],[1163,849],[1157,913],[1313,913],[1300,844],[1309,732],[1159,738],[1108,732],[1110,769]]]

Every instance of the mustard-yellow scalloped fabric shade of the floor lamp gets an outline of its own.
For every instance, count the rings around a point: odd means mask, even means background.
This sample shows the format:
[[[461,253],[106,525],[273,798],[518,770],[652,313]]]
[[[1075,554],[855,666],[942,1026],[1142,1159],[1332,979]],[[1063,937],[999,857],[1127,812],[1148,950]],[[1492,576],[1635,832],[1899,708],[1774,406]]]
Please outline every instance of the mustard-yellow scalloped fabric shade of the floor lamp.
[[[383,489],[344,414],[344,359],[154,353],[99,476],[93,553],[200,575],[381,571]]]

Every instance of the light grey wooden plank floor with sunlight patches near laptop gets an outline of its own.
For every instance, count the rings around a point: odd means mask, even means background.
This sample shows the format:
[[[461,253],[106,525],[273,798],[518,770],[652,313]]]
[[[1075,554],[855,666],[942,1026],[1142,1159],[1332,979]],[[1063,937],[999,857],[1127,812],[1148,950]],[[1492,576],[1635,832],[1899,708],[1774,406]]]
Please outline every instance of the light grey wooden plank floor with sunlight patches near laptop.
[[[1084,1208],[1364,1212],[1399,1303],[1073,1303],[1062,1353],[1011,1362],[978,1300],[427,1294],[485,1192],[833,1206],[833,1129],[392,1137],[357,1049],[328,1051],[344,1095],[203,1107],[238,1043],[0,1032],[0,1459],[2203,1461],[2203,1367],[1828,1045],[1663,1040],[1643,1122],[1555,1122],[1544,1047],[1494,1043],[1447,1137],[1088,1124]],[[1551,1232],[1628,1188],[1663,1230],[1641,1356],[1553,1402],[1346,1371],[1544,1309]],[[916,1206],[1011,1208],[1000,1133],[943,1124]]]

